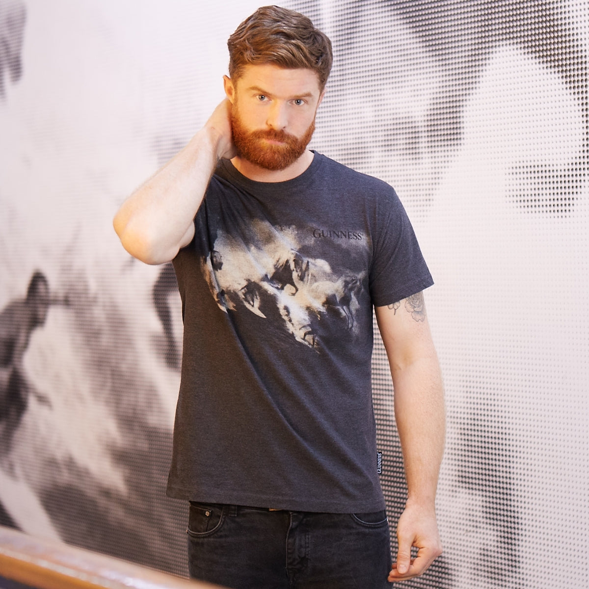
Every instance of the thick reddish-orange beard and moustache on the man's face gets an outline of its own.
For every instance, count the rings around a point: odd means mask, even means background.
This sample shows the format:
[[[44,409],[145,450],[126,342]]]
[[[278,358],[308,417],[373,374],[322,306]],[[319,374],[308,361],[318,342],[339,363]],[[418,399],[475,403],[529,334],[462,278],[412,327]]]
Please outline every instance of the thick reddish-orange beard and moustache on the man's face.
[[[294,164],[305,153],[315,131],[315,119],[300,138],[276,129],[248,131],[241,123],[235,105],[231,111],[231,125],[233,125],[233,143],[239,157],[260,168],[272,171],[284,170]],[[266,145],[264,140],[282,141],[283,144]]]

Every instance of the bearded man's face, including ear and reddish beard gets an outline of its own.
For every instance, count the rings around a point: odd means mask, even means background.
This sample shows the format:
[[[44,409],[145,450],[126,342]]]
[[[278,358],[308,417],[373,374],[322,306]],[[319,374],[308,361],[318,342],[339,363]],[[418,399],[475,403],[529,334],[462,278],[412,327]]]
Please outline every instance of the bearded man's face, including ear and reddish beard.
[[[226,91],[239,157],[274,171],[305,153],[323,98],[315,72],[248,65],[236,82],[226,79]]]

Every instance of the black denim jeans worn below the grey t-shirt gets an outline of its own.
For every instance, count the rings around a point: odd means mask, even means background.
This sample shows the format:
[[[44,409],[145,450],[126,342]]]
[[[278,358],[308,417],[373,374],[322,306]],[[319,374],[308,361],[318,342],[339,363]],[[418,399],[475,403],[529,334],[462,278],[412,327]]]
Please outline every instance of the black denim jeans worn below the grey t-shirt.
[[[391,587],[385,511],[329,514],[190,502],[192,578],[231,589]]]

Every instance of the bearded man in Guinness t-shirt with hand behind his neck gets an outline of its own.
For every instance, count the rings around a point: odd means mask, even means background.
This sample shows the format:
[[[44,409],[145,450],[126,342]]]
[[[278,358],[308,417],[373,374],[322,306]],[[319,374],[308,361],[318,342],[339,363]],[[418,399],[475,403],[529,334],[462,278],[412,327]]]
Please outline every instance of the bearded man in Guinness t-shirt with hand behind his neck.
[[[229,38],[226,100],[114,220],[173,260],[184,350],[168,495],[190,500],[191,576],[236,589],[386,587],[441,553],[441,376],[431,285],[388,184],[308,151],[329,39],[260,8]],[[391,564],[370,390],[372,309],[409,495]],[[411,558],[411,547],[418,548]]]

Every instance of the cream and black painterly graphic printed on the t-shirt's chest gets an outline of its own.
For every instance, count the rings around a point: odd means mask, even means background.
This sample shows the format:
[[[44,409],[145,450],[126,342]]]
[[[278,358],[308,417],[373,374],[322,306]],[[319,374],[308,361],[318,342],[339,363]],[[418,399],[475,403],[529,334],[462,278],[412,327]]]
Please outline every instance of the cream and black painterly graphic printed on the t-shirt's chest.
[[[334,272],[326,260],[305,257],[299,232],[256,220],[231,236],[217,233],[204,274],[220,309],[245,308],[268,319],[310,348],[320,348],[319,322],[356,334],[356,312],[365,273]],[[312,239],[312,238],[311,238]],[[310,241],[309,241],[310,243]],[[346,259],[346,254],[343,254]]]

